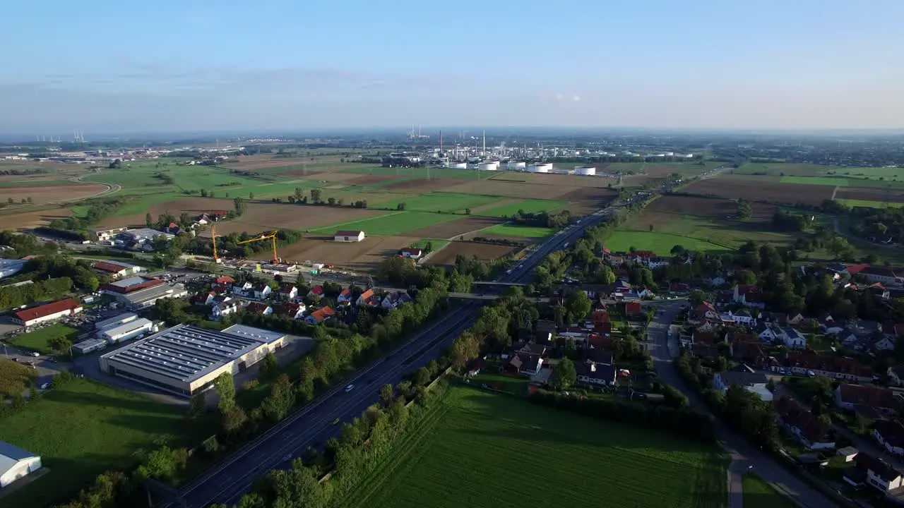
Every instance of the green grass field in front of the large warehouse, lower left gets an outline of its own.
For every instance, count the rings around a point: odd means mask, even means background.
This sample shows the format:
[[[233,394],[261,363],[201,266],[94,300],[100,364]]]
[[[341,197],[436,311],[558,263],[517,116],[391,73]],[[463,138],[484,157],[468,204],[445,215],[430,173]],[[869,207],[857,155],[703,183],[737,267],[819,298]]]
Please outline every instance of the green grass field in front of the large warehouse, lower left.
[[[47,391],[6,417],[0,440],[41,456],[46,475],[0,499],[2,508],[64,501],[108,470],[136,466],[141,450],[188,438],[181,409],[84,379]]]

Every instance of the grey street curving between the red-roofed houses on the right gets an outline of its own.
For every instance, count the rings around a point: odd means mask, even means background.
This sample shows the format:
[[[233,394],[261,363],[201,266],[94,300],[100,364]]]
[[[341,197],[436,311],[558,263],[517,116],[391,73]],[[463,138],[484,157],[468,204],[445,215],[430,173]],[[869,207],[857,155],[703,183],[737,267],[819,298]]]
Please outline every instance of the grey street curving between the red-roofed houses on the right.
[[[647,334],[654,339],[654,343],[649,348],[650,354],[653,356],[655,369],[660,380],[671,384],[687,395],[693,409],[709,413],[710,410],[703,400],[697,396],[697,393],[684,385],[683,380],[672,364],[673,358],[678,355],[678,344],[668,336],[669,325],[672,323],[673,316],[680,312],[682,306],[686,303],[686,300],[674,300],[658,306],[664,309],[664,313],[659,314],[657,312],[647,328]],[[776,459],[768,456],[762,450],[749,445],[746,439],[735,434],[732,429],[728,428],[720,420],[716,421],[716,437],[720,446],[724,447],[732,458],[731,466],[729,467],[731,508],[740,508],[742,506],[743,499],[740,485],[743,473],[748,470],[756,473],[801,506],[813,508],[836,506],[831,499],[815,491],[810,485],[778,464]]]

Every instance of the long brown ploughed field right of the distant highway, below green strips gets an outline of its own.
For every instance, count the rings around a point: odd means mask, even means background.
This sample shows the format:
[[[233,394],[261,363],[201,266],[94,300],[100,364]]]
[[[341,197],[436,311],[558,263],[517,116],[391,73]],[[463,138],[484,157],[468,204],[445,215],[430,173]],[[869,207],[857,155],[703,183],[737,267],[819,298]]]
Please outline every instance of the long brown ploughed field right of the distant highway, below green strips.
[[[753,201],[820,204],[832,199],[833,187],[800,183],[769,183],[722,175],[698,180],[684,188],[689,193],[711,194],[722,198]]]

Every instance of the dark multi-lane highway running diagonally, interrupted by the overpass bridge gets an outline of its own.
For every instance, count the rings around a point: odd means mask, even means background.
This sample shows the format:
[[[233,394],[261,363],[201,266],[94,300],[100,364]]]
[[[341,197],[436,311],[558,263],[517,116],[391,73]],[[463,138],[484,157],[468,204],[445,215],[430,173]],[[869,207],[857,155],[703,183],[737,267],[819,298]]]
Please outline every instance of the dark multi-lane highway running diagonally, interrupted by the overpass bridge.
[[[618,206],[599,211],[578,224],[556,233],[538,249],[512,268],[500,282],[527,280],[532,269],[553,250],[577,240],[586,228],[605,221]],[[329,390],[317,400],[242,447],[206,474],[187,484],[180,491],[185,506],[202,508],[211,503],[238,503],[242,494],[261,475],[278,467],[287,467],[307,447],[318,447],[332,437],[343,422],[351,421],[378,400],[383,384],[397,384],[409,372],[414,372],[437,358],[443,348],[452,343],[476,320],[481,305],[470,302],[455,312],[441,315],[428,329],[410,342],[383,357],[380,361],[357,372],[340,386]],[[353,385],[346,391],[346,386]],[[338,419],[337,423],[334,423]],[[173,506],[174,503],[168,505]]]

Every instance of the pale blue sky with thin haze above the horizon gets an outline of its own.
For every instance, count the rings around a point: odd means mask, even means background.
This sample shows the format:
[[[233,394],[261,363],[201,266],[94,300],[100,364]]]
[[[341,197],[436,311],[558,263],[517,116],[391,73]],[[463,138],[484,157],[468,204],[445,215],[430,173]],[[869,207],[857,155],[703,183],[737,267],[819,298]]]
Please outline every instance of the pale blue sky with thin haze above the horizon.
[[[899,0],[11,1],[0,132],[904,127],[901,19]]]

